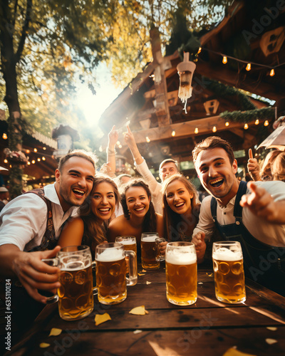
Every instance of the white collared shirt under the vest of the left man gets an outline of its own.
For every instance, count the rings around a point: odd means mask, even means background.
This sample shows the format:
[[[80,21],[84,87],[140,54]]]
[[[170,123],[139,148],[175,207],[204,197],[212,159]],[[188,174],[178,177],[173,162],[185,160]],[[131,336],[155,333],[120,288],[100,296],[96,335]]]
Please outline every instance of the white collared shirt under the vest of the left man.
[[[53,226],[58,239],[63,223],[75,215],[78,207],[64,212],[54,184],[44,187],[45,197],[51,201]],[[9,201],[0,214],[0,246],[13,244],[21,251],[39,246],[46,231],[48,209],[45,201],[36,194],[23,194]]]

